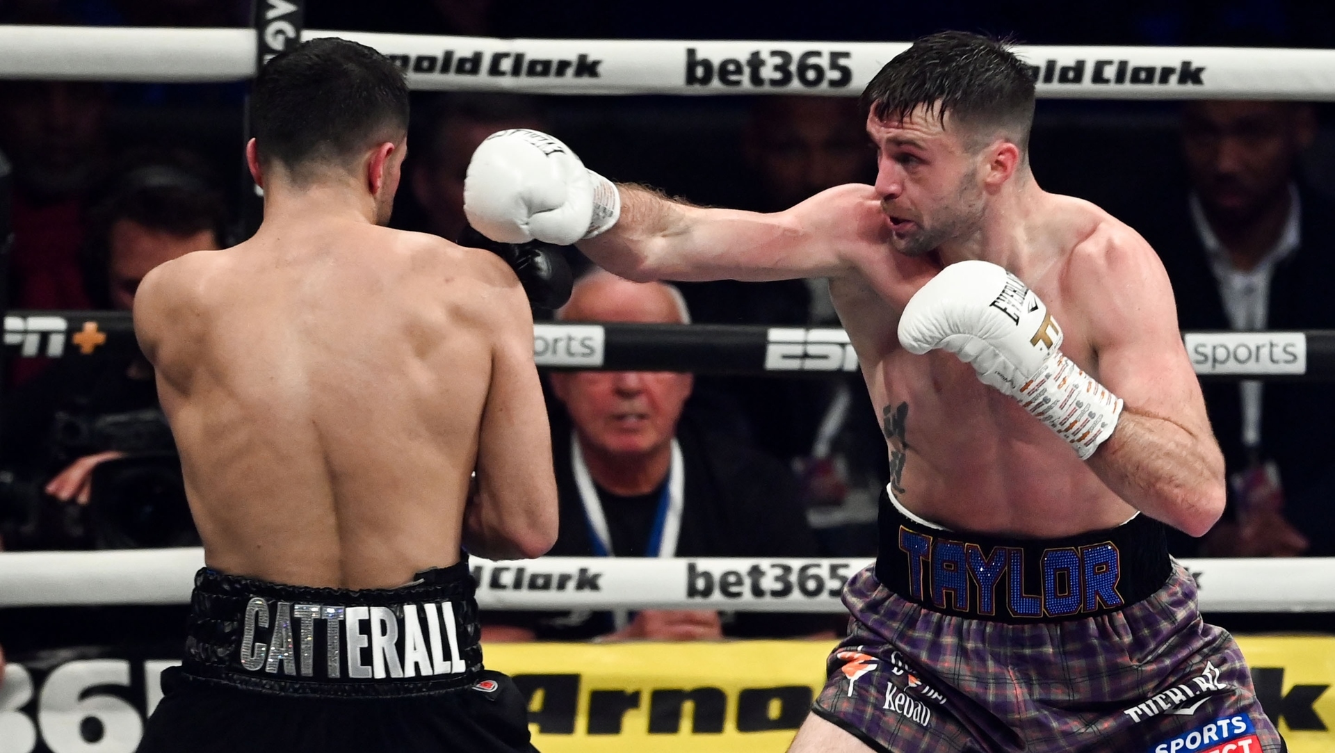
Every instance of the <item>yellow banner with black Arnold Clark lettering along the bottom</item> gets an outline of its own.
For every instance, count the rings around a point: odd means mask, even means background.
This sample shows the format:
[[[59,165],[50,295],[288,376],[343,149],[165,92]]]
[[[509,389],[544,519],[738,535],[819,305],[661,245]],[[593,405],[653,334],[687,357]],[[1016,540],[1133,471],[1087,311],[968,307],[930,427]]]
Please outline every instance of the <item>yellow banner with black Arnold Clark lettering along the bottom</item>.
[[[1240,637],[1292,753],[1335,753],[1335,637]],[[490,644],[543,753],[782,753],[825,680],[824,641]]]

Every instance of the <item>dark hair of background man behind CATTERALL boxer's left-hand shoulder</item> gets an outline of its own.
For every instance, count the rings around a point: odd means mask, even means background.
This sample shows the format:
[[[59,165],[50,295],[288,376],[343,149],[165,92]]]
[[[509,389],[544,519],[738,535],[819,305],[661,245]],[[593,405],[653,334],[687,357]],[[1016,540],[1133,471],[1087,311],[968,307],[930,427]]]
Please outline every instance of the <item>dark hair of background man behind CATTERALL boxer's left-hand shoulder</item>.
[[[167,158],[117,171],[95,192],[85,218],[80,270],[97,308],[111,308],[111,228],[120,220],[176,236],[207,230],[220,244],[227,239],[227,203],[203,167]]]

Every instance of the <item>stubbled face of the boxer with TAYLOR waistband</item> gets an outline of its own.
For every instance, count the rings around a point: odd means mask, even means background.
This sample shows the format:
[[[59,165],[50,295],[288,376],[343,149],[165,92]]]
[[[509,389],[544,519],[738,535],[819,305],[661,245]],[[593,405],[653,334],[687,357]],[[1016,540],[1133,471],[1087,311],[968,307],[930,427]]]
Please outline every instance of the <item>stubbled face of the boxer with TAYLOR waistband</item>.
[[[985,194],[979,159],[949,113],[943,124],[914,109],[902,120],[866,119],[876,147],[876,191],[894,250],[921,256],[972,235],[983,220]]]

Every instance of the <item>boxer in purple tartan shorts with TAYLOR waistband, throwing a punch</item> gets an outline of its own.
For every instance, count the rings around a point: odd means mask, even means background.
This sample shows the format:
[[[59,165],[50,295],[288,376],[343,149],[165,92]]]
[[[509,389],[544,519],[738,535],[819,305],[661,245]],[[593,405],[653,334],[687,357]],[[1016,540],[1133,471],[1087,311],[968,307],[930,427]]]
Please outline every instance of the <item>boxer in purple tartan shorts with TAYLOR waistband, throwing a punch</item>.
[[[1164,543],[1214,526],[1224,466],[1157,255],[1037,186],[1035,69],[1005,44],[922,37],[862,101],[876,186],[781,212],[615,186],[533,131],[465,186],[483,234],[625,278],[829,279],[890,473],[790,750],[1282,750]]]

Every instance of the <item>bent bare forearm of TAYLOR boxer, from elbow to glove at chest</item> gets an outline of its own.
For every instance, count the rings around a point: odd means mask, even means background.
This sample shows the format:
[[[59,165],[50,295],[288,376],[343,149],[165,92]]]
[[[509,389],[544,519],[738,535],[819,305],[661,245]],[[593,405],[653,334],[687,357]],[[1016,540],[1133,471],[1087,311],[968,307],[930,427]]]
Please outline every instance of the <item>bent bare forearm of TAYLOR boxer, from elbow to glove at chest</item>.
[[[1117,429],[1088,461],[1137,510],[1204,535],[1224,510],[1224,461],[1212,437],[1124,409]]]

